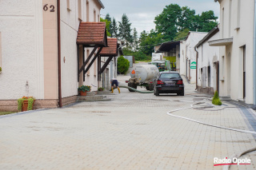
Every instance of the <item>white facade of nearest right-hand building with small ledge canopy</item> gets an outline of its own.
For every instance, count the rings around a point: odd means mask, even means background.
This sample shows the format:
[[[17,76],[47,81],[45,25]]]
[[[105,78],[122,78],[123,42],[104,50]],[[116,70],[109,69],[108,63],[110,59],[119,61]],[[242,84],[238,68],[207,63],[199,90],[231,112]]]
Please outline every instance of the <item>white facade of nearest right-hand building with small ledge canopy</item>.
[[[220,96],[254,104],[254,0],[215,0],[220,4]]]

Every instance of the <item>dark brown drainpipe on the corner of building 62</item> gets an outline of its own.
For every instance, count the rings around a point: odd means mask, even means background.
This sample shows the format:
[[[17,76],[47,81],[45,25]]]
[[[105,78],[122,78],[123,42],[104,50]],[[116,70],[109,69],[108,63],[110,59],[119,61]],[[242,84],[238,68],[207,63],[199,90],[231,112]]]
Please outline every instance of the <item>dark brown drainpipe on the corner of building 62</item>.
[[[61,12],[60,2],[57,0],[58,8],[58,106],[62,108],[62,62],[61,62]]]

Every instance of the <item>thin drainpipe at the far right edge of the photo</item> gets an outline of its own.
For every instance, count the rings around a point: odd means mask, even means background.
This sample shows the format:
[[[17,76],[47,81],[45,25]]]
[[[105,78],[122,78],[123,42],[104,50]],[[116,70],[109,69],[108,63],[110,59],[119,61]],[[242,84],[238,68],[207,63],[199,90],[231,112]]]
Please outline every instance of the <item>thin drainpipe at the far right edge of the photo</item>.
[[[256,0],[254,0],[254,105],[256,105]]]

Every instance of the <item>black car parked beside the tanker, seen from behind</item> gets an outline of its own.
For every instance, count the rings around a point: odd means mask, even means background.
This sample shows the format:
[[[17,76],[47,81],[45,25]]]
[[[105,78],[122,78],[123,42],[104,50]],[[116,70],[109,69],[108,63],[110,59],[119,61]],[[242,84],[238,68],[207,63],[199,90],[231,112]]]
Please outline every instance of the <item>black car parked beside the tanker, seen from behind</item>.
[[[159,93],[177,93],[184,96],[184,84],[178,72],[161,72],[154,81],[154,95]]]

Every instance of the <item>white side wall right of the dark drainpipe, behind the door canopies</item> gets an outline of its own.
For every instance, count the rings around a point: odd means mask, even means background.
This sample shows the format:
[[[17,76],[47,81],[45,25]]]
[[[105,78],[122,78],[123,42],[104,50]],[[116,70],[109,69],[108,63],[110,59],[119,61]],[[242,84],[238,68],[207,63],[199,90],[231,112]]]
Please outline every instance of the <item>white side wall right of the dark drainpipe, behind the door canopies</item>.
[[[86,0],[81,1],[82,22],[86,21]],[[61,34],[62,34],[62,97],[70,97],[78,94],[78,61],[76,39],[80,20],[78,19],[78,0],[70,0],[70,10],[67,9],[66,1],[61,3]],[[96,0],[89,1],[90,21],[94,22],[94,10],[96,22],[100,14],[101,6]],[[90,49],[90,52],[93,48]],[[85,48],[85,60],[88,57]],[[97,53],[97,51],[95,52]],[[66,58],[64,63],[63,58]],[[93,56],[94,57],[94,56]],[[93,58],[91,57],[91,59]],[[94,62],[97,63],[97,60]],[[97,64],[96,64],[97,70]],[[86,73],[83,85],[90,85],[92,91],[98,90],[98,78],[94,76],[94,64],[90,67],[90,74]]]

